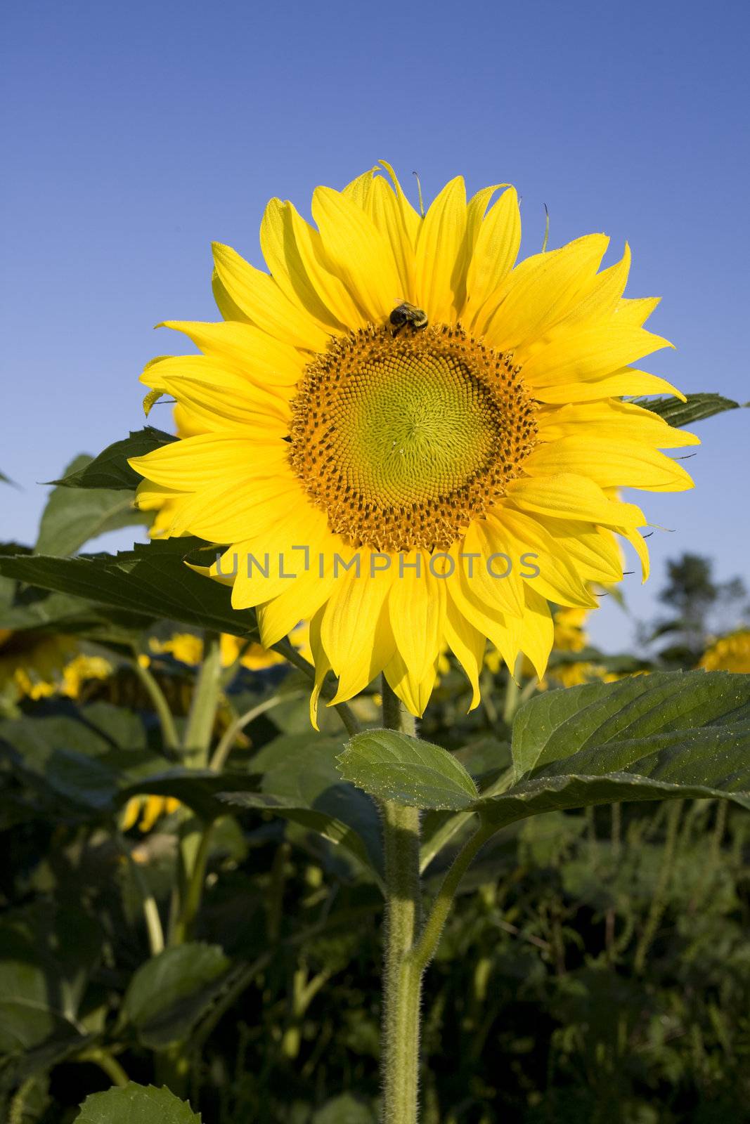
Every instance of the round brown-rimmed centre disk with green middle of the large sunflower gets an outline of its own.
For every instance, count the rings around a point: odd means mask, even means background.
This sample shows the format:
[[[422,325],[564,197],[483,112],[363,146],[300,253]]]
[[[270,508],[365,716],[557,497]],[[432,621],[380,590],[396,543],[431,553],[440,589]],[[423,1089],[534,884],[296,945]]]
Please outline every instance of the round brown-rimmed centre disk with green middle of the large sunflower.
[[[532,450],[512,356],[460,327],[335,339],[293,401],[290,461],[331,529],[380,551],[448,550]]]

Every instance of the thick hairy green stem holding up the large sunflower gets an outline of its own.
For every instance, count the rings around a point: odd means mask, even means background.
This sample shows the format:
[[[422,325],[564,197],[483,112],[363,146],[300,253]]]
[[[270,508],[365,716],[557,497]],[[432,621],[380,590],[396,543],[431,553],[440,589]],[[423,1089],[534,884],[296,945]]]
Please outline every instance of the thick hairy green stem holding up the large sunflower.
[[[382,722],[414,734],[407,715],[382,680]],[[422,971],[409,954],[421,926],[419,812],[383,800],[386,930],[383,958],[382,1121],[416,1124],[419,1086],[419,992]]]

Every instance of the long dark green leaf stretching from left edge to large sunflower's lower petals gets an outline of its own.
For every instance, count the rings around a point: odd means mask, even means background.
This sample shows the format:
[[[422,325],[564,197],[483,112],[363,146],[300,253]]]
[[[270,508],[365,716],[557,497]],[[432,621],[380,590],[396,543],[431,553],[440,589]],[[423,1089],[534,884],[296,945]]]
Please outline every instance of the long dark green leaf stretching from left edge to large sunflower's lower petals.
[[[196,573],[186,564],[184,559],[195,552],[197,542],[169,538],[136,544],[132,551],[115,555],[75,559],[2,556],[0,573],[152,619],[168,618],[197,628],[256,636],[255,614],[250,609],[233,609],[232,590],[227,586]],[[214,552],[209,553],[213,560]]]

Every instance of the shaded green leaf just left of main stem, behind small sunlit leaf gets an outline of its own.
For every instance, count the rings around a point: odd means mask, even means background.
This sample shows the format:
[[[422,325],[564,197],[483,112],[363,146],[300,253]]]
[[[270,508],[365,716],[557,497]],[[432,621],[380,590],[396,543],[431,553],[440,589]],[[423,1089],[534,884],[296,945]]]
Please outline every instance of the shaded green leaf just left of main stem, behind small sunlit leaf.
[[[341,741],[310,734],[283,734],[252,759],[261,773],[260,791],[225,798],[265,809],[317,832],[352,854],[382,885],[380,817],[364,792],[342,780],[336,768]]]

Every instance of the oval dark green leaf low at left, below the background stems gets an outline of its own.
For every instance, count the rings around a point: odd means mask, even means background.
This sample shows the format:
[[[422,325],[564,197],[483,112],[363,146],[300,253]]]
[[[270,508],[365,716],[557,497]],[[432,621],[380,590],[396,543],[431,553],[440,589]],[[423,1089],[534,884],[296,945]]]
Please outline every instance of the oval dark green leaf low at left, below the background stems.
[[[123,1000],[123,1018],[141,1043],[163,1050],[190,1036],[222,992],[229,961],[216,944],[165,949],[137,969]]]

